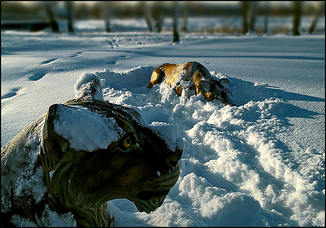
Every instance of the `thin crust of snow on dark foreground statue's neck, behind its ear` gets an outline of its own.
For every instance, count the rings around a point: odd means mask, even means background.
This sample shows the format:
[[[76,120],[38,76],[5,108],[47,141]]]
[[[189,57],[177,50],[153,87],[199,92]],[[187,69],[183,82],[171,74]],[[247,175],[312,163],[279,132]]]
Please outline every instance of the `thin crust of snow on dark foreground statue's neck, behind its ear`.
[[[16,136],[12,142],[18,142],[12,149],[11,154],[1,155],[1,211],[7,212],[11,208],[11,203],[7,194],[11,197],[31,195],[36,202],[44,199],[47,186],[44,186],[44,172],[41,167],[36,168],[34,164],[40,154],[40,144],[42,142],[42,130],[44,118],[29,126],[35,134],[21,134]]]

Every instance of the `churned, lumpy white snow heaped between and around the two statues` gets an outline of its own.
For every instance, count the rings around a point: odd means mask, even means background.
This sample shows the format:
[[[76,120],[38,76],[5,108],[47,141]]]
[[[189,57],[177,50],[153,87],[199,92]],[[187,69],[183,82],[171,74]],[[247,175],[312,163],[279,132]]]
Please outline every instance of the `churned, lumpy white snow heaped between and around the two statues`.
[[[146,67],[96,72],[105,79],[128,77],[129,81],[135,81],[138,71],[143,69],[142,76],[147,80],[139,83],[139,87],[125,89],[118,81],[111,86],[110,80],[106,80],[104,99],[138,110],[155,127],[179,126],[184,139],[180,178],[165,204],[150,215],[134,212],[135,215],[159,226],[324,223],[318,213],[311,213],[311,208],[304,206],[314,201],[315,207],[322,208],[324,193],[314,190],[316,182],[305,180],[292,169],[293,164],[284,157],[285,148],[277,139],[287,130],[286,105],[282,99],[270,97],[231,107],[218,100],[207,102],[203,95],[196,96],[191,90],[178,96],[165,83],[149,89],[151,71],[146,71]],[[230,85],[226,86],[232,92],[235,89],[235,95],[242,94],[242,102],[252,96],[271,95],[267,85],[243,86],[223,73],[210,73],[216,79],[228,78]],[[239,97],[233,95],[231,99]],[[170,139],[174,137],[174,132],[166,133]],[[309,154],[322,161],[320,152]],[[116,210],[125,210],[121,207]],[[110,211],[111,215],[121,213]],[[234,219],[234,214],[240,218]],[[128,224],[126,221],[121,225]]]

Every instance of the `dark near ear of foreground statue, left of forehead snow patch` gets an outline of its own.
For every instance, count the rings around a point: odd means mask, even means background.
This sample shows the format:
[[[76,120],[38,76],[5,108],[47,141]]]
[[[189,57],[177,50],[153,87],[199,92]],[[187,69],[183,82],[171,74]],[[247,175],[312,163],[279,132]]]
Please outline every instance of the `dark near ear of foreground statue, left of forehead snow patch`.
[[[59,106],[62,105],[55,104],[50,106],[43,128],[44,149],[50,151],[51,155],[56,156],[58,159],[64,156],[69,146],[69,142],[55,132],[55,120],[60,115]]]

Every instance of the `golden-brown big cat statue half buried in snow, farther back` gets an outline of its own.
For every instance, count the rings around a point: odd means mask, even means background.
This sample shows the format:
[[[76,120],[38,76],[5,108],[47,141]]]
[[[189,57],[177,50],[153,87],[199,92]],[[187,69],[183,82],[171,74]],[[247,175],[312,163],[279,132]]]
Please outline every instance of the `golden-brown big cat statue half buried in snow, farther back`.
[[[229,83],[228,79],[217,80],[209,71],[198,62],[187,62],[185,64],[165,63],[157,67],[152,75],[149,88],[164,80],[171,88],[174,88],[180,96],[182,90],[190,88],[195,94],[203,94],[205,99],[218,99],[224,105],[235,106],[229,95],[231,91],[221,83]]]

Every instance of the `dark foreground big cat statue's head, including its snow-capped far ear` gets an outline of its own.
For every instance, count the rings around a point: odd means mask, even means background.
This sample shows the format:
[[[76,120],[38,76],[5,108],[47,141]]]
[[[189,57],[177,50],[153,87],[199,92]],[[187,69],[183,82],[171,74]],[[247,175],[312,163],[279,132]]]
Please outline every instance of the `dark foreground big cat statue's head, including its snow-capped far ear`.
[[[75,99],[50,106],[43,117],[38,164],[46,203],[58,213],[72,212],[78,226],[109,225],[105,208],[112,199],[154,211],[178,180],[181,136],[169,139],[134,109],[96,99],[99,78],[77,87]]]

